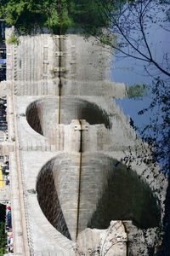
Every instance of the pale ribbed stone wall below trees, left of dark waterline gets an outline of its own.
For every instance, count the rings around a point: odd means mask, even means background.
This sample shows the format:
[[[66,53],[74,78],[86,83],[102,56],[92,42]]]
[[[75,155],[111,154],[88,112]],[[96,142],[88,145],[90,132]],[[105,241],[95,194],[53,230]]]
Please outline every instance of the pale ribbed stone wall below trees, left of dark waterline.
[[[51,88],[51,85],[54,88],[52,89],[54,94],[57,93],[58,90],[55,90],[53,80],[48,78],[50,76],[49,71],[45,76],[43,73],[43,65],[48,65],[50,62],[48,59],[43,60],[43,58],[48,58],[48,51],[52,55],[51,51],[53,49],[53,45],[51,45],[51,48],[45,47],[47,44],[47,36],[41,35],[20,37],[19,46],[14,46],[14,80],[17,81],[15,82],[14,93],[16,95],[46,96],[48,95],[48,86]],[[53,41],[50,44],[53,44]],[[45,49],[47,51],[46,55],[43,52]],[[8,46],[8,51],[10,50],[10,46]],[[44,61],[47,63],[44,64]],[[53,64],[50,63],[50,65]]]

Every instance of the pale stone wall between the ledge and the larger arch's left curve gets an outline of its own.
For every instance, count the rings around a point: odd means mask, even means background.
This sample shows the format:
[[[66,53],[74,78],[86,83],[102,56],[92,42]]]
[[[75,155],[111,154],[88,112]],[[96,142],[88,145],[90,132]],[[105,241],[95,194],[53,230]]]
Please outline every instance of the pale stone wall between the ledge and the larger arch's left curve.
[[[37,195],[31,194],[31,190],[36,190],[37,176],[48,161],[53,160],[54,157],[62,154],[59,152],[27,152],[20,150],[20,158],[22,162],[22,176],[24,183],[24,196],[27,233],[29,238],[29,246],[32,253],[40,251],[53,251],[59,252],[58,255],[73,256],[75,243],[70,241],[65,236],[61,235],[53,226],[48,222],[48,219],[42,213],[42,210],[37,201]],[[64,254],[63,254],[64,253]]]

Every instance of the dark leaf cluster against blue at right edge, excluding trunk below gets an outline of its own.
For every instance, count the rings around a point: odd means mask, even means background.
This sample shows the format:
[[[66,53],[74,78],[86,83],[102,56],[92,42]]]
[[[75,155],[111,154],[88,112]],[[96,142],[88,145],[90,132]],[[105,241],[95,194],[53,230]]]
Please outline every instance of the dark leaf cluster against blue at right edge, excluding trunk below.
[[[150,116],[150,124],[141,131],[143,140],[149,143],[152,149],[152,161],[159,162],[162,172],[170,172],[170,89],[160,78],[152,82],[152,96],[149,108],[139,111],[139,114],[147,111],[155,111]],[[161,116],[159,115],[161,113]],[[137,128],[138,129],[138,128]]]

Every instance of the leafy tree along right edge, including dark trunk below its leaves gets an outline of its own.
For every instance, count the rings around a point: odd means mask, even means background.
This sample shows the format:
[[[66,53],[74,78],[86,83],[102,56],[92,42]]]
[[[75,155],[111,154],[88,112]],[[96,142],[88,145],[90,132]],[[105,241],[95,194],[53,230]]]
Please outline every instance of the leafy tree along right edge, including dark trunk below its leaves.
[[[158,162],[161,171],[167,174],[168,185],[165,201],[164,216],[164,236],[162,246],[160,248],[161,256],[167,256],[170,253],[170,88],[165,81],[160,78],[154,79],[152,82],[153,99],[149,108],[142,109],[139,114],[152,111],[150,115],[150,124],[145,125],[141,131],[138,127],[134,127],[142,135],[143,140],[152,148],[152,154],[149,161]],[[161,115],[160,115],[161,113]]]

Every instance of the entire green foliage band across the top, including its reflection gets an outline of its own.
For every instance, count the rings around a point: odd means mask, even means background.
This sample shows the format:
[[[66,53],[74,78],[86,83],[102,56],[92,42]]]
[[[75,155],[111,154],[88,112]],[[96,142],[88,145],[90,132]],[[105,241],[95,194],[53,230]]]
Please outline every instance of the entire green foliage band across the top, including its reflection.
[[[21,34],[47,26],[54,33],[65,33],[71,27],[82,27],[84,32],[97,34],[109,26],[100,0],[1,0],[0,17]],[[106,0],[107,9],[111,9]],[[110,8],[111,7],[111,8]]]

